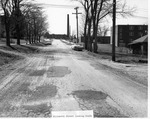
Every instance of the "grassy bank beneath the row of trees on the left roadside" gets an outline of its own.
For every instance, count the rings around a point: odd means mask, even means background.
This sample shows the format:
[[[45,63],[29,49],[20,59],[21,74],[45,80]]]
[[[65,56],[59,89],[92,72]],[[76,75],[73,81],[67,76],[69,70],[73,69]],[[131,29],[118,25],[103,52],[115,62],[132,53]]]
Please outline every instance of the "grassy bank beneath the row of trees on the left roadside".
[[[13,42],[16,39],[13,39]],[[24,59],[26,55],[31,55],[40,52],[40,47],[46,47],[48,44],[44,42],[38,42],[34,44],[25,44],[25,41],[21,44],[16,45],[11,44],[11,46],[6,46],[5,39],[0,39],[0,67],[2,65],[12,63],[17,60]]]

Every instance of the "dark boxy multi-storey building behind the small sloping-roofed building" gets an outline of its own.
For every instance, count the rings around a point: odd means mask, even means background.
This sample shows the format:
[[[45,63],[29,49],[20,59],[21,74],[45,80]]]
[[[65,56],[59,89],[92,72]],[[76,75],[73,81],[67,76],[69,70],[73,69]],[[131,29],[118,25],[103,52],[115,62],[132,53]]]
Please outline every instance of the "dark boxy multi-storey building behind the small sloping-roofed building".
[[[116,46],[128,47],[132,41],[148,34],[148,25],[117,25],[116,26]],[[110,43],[112,44],[112,35]]]

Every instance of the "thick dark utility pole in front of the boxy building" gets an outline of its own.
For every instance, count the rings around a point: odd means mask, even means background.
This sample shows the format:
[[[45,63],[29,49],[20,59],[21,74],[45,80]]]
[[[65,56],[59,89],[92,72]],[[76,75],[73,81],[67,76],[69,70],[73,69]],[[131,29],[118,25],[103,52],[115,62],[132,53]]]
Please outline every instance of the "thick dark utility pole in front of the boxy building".
[[[116,34],[116,0],[113,0],[113,37],[112,37],[112,61],[115,61],[115,34]]]

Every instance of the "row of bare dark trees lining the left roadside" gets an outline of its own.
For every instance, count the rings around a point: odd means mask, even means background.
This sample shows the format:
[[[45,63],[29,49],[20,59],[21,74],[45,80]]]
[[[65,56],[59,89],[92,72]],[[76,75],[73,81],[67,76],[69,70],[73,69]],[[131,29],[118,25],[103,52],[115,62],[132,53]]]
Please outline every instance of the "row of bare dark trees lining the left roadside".
[[[33,0],[32,0],[33,1]],[[26,33],[32,42],[39,40],[47,29],[46,17],[42,8],[32,4],[31,0],[0,0],[0,6],[4,12],[6,45],[10,46],[10,30],[17,36],[17,44],[20,45],[21,35]],[[30,42],[31,43],[31,42]]]

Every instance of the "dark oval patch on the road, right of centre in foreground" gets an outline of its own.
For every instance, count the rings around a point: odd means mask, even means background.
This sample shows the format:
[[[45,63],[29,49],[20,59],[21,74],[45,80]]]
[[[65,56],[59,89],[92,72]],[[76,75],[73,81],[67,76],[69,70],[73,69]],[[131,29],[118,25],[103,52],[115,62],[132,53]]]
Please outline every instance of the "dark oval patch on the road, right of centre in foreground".
[[[74,91],[72,95],[82,100],[105,100],[108,96],[107,94],[101,91],[92,91],[92,90],[78,90]]]

